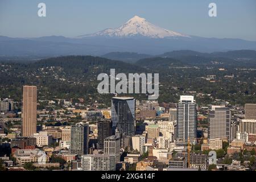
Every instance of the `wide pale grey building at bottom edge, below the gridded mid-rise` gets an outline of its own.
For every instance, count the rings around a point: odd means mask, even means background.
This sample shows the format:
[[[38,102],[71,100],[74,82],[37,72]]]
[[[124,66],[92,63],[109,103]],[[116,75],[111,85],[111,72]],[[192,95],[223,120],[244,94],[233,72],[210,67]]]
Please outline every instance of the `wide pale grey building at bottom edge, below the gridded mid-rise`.
[[[115,158],[112,155],[82,155],[82,171],[115,171]]]

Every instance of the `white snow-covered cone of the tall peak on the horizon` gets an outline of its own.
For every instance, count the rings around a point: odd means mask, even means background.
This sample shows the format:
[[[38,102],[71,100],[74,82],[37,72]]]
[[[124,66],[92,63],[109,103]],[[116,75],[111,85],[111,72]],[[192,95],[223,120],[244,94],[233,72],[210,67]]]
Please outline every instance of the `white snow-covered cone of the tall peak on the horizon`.
[[[94,37],[94,36],[109,36],[109,37],[131,37],[131,36],[145,36],[148,38],[174,38],[174,37],[186,37],[189,36],[180,34],[174,31],[170,31],[164,28],[155,26],[154,24],[147,22],[146,19],[139,16],[134,16],[128,20],[125,24],[118,28],[108,28],[103,31],[96,32],[94,34],[81,35],[80,38]]]

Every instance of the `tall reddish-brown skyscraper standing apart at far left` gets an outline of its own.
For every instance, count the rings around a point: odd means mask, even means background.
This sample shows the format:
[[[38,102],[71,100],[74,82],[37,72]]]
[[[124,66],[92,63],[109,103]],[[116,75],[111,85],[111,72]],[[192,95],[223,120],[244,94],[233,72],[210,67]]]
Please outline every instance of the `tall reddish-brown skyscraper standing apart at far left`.
[[[36,133],[36,86],[23,86],[22,135],[30,137]]]

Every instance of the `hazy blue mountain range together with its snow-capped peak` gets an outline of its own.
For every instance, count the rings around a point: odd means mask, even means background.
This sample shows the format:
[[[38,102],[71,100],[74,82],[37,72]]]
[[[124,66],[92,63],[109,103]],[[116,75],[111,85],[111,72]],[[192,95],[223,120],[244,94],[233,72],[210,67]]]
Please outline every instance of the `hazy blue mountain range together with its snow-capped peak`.
[[[75,38],[55,35],[40,38],[0,36],[0,57],[18,56],[24,59],[67,55],[101,56],[110,52],[136,52],[139,57],[180,50],[210,53],[241,49],[256,50],[256,42],[185,35],[155,26],[139,16],[134,16],[118,28]],[[134,61],[134,56],[130,56],[128,60]],[[142,56],[141,59],[146,57]]]

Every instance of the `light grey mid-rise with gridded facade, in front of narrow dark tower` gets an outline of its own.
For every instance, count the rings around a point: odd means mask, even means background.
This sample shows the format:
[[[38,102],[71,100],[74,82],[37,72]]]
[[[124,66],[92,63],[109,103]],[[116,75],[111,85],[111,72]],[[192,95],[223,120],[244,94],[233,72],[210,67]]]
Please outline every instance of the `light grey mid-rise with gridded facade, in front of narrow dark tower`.
[[[115,163],[120,162],[120,137],[112,135],[104,139],[104,154],[112,155],[115,157]]]

